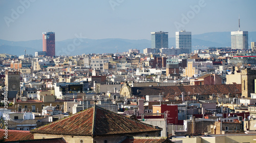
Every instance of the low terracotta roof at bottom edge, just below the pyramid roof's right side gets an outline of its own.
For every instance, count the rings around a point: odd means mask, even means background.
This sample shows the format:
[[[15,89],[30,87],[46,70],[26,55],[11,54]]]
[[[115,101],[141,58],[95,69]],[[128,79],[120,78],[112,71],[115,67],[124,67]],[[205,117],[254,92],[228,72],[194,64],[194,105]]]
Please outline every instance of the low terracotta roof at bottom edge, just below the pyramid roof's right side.
[[[121,143],[168,143],[172,142],[168,138],[163,137],[130,137],[124,139]]]

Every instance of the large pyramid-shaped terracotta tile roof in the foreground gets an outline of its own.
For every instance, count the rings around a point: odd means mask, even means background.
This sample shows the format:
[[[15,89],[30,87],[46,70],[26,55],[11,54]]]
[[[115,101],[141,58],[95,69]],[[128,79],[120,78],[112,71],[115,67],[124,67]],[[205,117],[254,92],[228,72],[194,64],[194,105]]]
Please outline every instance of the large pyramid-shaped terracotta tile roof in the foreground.
[[[30,131],[31,133],[100,136],[161,131],[117,113],[93,106],[70,117]]]

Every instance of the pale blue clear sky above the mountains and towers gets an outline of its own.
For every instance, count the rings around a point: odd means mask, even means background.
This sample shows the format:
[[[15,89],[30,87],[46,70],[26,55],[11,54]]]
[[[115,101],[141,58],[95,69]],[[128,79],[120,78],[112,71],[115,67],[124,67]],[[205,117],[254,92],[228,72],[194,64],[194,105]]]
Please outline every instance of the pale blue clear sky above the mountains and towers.
[[[151,32],[186,30],[193,35],[256,31],[255,0],[0,0],[0,39],[29,41],[42,32],[55,40],[151,39]]]

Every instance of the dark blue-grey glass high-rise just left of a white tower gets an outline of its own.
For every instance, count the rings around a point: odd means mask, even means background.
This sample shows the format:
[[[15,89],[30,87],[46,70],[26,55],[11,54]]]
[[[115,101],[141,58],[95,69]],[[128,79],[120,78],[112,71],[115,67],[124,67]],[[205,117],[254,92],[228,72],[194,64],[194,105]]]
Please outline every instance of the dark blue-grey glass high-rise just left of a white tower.
[[[152,48],[168,48],[168,32],[152,32],[151,33]]]

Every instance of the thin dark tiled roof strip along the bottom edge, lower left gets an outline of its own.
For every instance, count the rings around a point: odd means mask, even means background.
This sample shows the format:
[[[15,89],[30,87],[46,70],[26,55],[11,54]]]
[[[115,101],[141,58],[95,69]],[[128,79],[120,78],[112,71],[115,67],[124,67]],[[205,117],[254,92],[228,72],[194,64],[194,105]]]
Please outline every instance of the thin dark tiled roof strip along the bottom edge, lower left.
[[[64,138],[47,138],[47,139],[32,139],[32,140],[20,140],[20,141],[7,141],[13,143],[25,142],[25,143],[66,143]]]

